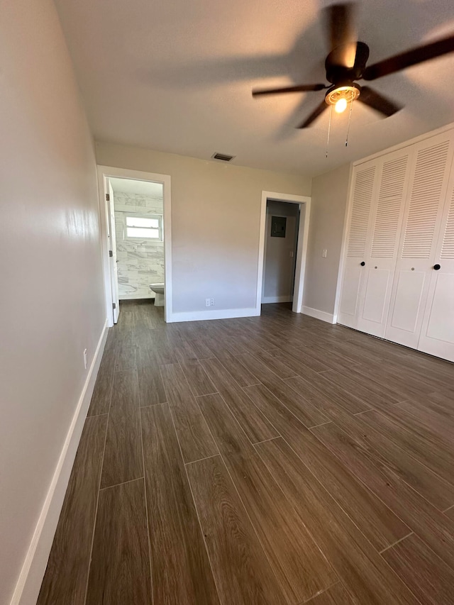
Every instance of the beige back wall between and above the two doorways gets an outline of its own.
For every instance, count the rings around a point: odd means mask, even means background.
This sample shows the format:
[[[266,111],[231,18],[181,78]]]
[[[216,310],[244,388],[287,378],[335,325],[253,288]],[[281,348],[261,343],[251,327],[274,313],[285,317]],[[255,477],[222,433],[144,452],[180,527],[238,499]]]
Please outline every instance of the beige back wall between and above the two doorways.
[[[262,190],[310,195],[311,179],[96,143],[104,166],[172,178],[173,312],[255,307]]]

